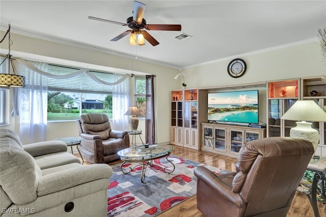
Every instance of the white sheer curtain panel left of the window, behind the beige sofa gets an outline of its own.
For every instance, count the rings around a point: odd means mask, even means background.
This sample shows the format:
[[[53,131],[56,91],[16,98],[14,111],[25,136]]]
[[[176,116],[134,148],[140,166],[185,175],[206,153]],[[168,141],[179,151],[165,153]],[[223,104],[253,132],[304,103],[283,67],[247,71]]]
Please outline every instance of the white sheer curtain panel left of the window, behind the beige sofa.
[[[38,63],[42,71],[47,64]],[[23,144],[45,141],[47,128],[47,77],[23,65],[18,73],[25,76],[25,88],[20,91],[20,140]]]

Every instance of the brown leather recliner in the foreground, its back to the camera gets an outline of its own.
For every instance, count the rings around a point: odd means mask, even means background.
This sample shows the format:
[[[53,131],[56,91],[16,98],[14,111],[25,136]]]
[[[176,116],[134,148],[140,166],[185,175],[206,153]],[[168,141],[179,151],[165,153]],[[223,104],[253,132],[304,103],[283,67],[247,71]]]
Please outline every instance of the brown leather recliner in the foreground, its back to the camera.
[[[314,153],[304,139],[274,137],[244,144],[236,172],[195,168],[197,208],[205,216],[286,216]]]

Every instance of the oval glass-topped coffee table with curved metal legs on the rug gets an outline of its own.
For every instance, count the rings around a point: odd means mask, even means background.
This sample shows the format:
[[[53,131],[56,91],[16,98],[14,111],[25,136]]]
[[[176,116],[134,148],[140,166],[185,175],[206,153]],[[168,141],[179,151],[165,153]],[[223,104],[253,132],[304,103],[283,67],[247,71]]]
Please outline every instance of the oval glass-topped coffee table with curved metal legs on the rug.
[[[175,170],[175,166],[171,160],[168,159],[171,151],[174,150],[172,145],[143,145],[138,147],[126,148],[118,151],[118,155],[121,160],[124,161],[120,166],[121,172],[124,174],[130,173],[136,167],[142,167],[141,182],[144,183],[145,172],[147,166],[152,166],[154,159],[166,157],[167,161],[172,165],[173,170],[167,171],[166,168],[160,167],[166,173],[172,173]],[[123,168],[127,162],[141,162],[142,164],[136,165],[133,168],[129,167],[127,170]],[[157,166],[157,165],[155,165]]]

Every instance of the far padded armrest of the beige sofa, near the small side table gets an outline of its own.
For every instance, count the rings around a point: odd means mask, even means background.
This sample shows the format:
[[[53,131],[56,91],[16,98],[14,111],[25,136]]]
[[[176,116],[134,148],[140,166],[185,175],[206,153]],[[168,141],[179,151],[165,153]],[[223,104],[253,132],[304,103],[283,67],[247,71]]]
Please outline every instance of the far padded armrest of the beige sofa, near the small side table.
[[[44,155],[44,154],[67,151],[67,145],[65,142],[62,141],[46,141],[46,142],[32,143],[28,145],[23,145],[22,147],[24,151],[28,152],[33,157]]]

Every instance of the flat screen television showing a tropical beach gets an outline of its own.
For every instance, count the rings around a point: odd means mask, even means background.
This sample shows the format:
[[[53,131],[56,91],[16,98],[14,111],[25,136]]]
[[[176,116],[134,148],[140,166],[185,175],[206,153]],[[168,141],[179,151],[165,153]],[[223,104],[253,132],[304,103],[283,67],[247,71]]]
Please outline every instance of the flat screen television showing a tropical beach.
[[[258,124],[258,90],[208,93],[208,121]]]

